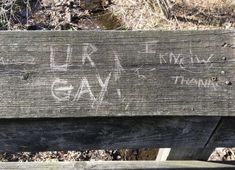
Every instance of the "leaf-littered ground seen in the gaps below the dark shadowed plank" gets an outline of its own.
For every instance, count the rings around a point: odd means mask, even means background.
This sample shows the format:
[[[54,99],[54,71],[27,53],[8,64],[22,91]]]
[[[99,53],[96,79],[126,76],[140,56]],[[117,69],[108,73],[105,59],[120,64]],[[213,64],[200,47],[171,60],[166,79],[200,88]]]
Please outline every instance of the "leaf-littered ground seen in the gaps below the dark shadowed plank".
[[[156,160],[158,149],[1,153],[1,162]],[[216,148],[209,161],[234,161],[235,148]]]

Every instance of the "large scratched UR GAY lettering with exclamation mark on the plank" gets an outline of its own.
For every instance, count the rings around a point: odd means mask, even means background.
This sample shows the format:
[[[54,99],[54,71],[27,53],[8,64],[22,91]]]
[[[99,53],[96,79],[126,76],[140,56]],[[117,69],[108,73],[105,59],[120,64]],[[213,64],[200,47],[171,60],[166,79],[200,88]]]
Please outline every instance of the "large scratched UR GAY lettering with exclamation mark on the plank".
[[[50,46],[50,68],[53,71],[67,71],[69,64],[71,64],[71,58],[72,58],[72,47],[70,44],[67,45],[67,55],[65,62],[56,63],[56,45]],[[58,47],[57,47],[58,48]],[[95,107],[96,110],[103,104],[108,103],[103,101],[105,94],[108,90],[108,84],[111,78],[112,73],[110,72],[108,76],[102,80],[98,69],[95,66],[95,62],[92,60],[91,55],[95,53],[98,49],[92,45],[91,43],[83,43],[82,45],[82,65],[85,65],[86,62],[89,62],[89,64],[94,67],[95,73],[96,73],[96,81],[92,80],[92,83],[98,82],[98,85],[101,87],[101,90],[99,94],[96,96],[95,93],[93,93],[93,87],[89,83],[86,76],[81,77],[80,85],[76,91],[74,91],[74,86],[70,84],[67,80],[56,78],[54,82],[51,85],[51,94],[52,96],[59,102],[62,101],[73,101],[73,102],[79,102],[79,100],[89,100],[91,101],[91,107]],[[115,70],[114,70],[114,78],[115,81],[118,81],[121,76],[121,72],[124,71],[124,69],[121,66],[121,63],[118,58],[117,52],[114,51],[114,63],[115,63]],[[96,90],[97,91],[97,90]],[[74,92],[74,97],[71,99],[72,92]],[[117,91],[118,96],[121,96],[120,90]],[[85,98],[86,97],[86,98]],[[109,103],[108,103],[109,104]]]

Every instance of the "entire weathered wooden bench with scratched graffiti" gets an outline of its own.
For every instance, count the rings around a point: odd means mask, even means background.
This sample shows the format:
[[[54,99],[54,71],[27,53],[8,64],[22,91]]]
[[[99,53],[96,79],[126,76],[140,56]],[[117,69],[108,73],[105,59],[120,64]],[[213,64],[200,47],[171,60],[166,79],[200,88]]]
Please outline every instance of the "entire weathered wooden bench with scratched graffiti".
[[[0,169],[233,169],[235,30],[0,32],[0,151],[172,148],[168,160]]]

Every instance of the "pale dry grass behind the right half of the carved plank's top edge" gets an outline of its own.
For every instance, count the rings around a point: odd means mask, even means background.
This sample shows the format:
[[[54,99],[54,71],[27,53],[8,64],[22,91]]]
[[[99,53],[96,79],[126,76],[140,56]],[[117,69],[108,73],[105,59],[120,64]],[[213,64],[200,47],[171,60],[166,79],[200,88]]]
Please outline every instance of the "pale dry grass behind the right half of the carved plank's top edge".
[[[111,10],[120,16],[124,27],[132,30],[227,28],[232,27],[231,18],[235,17],[234,0],[176,0],[172,5],[173,20],[167,21],[156,2],[113,0]]]

